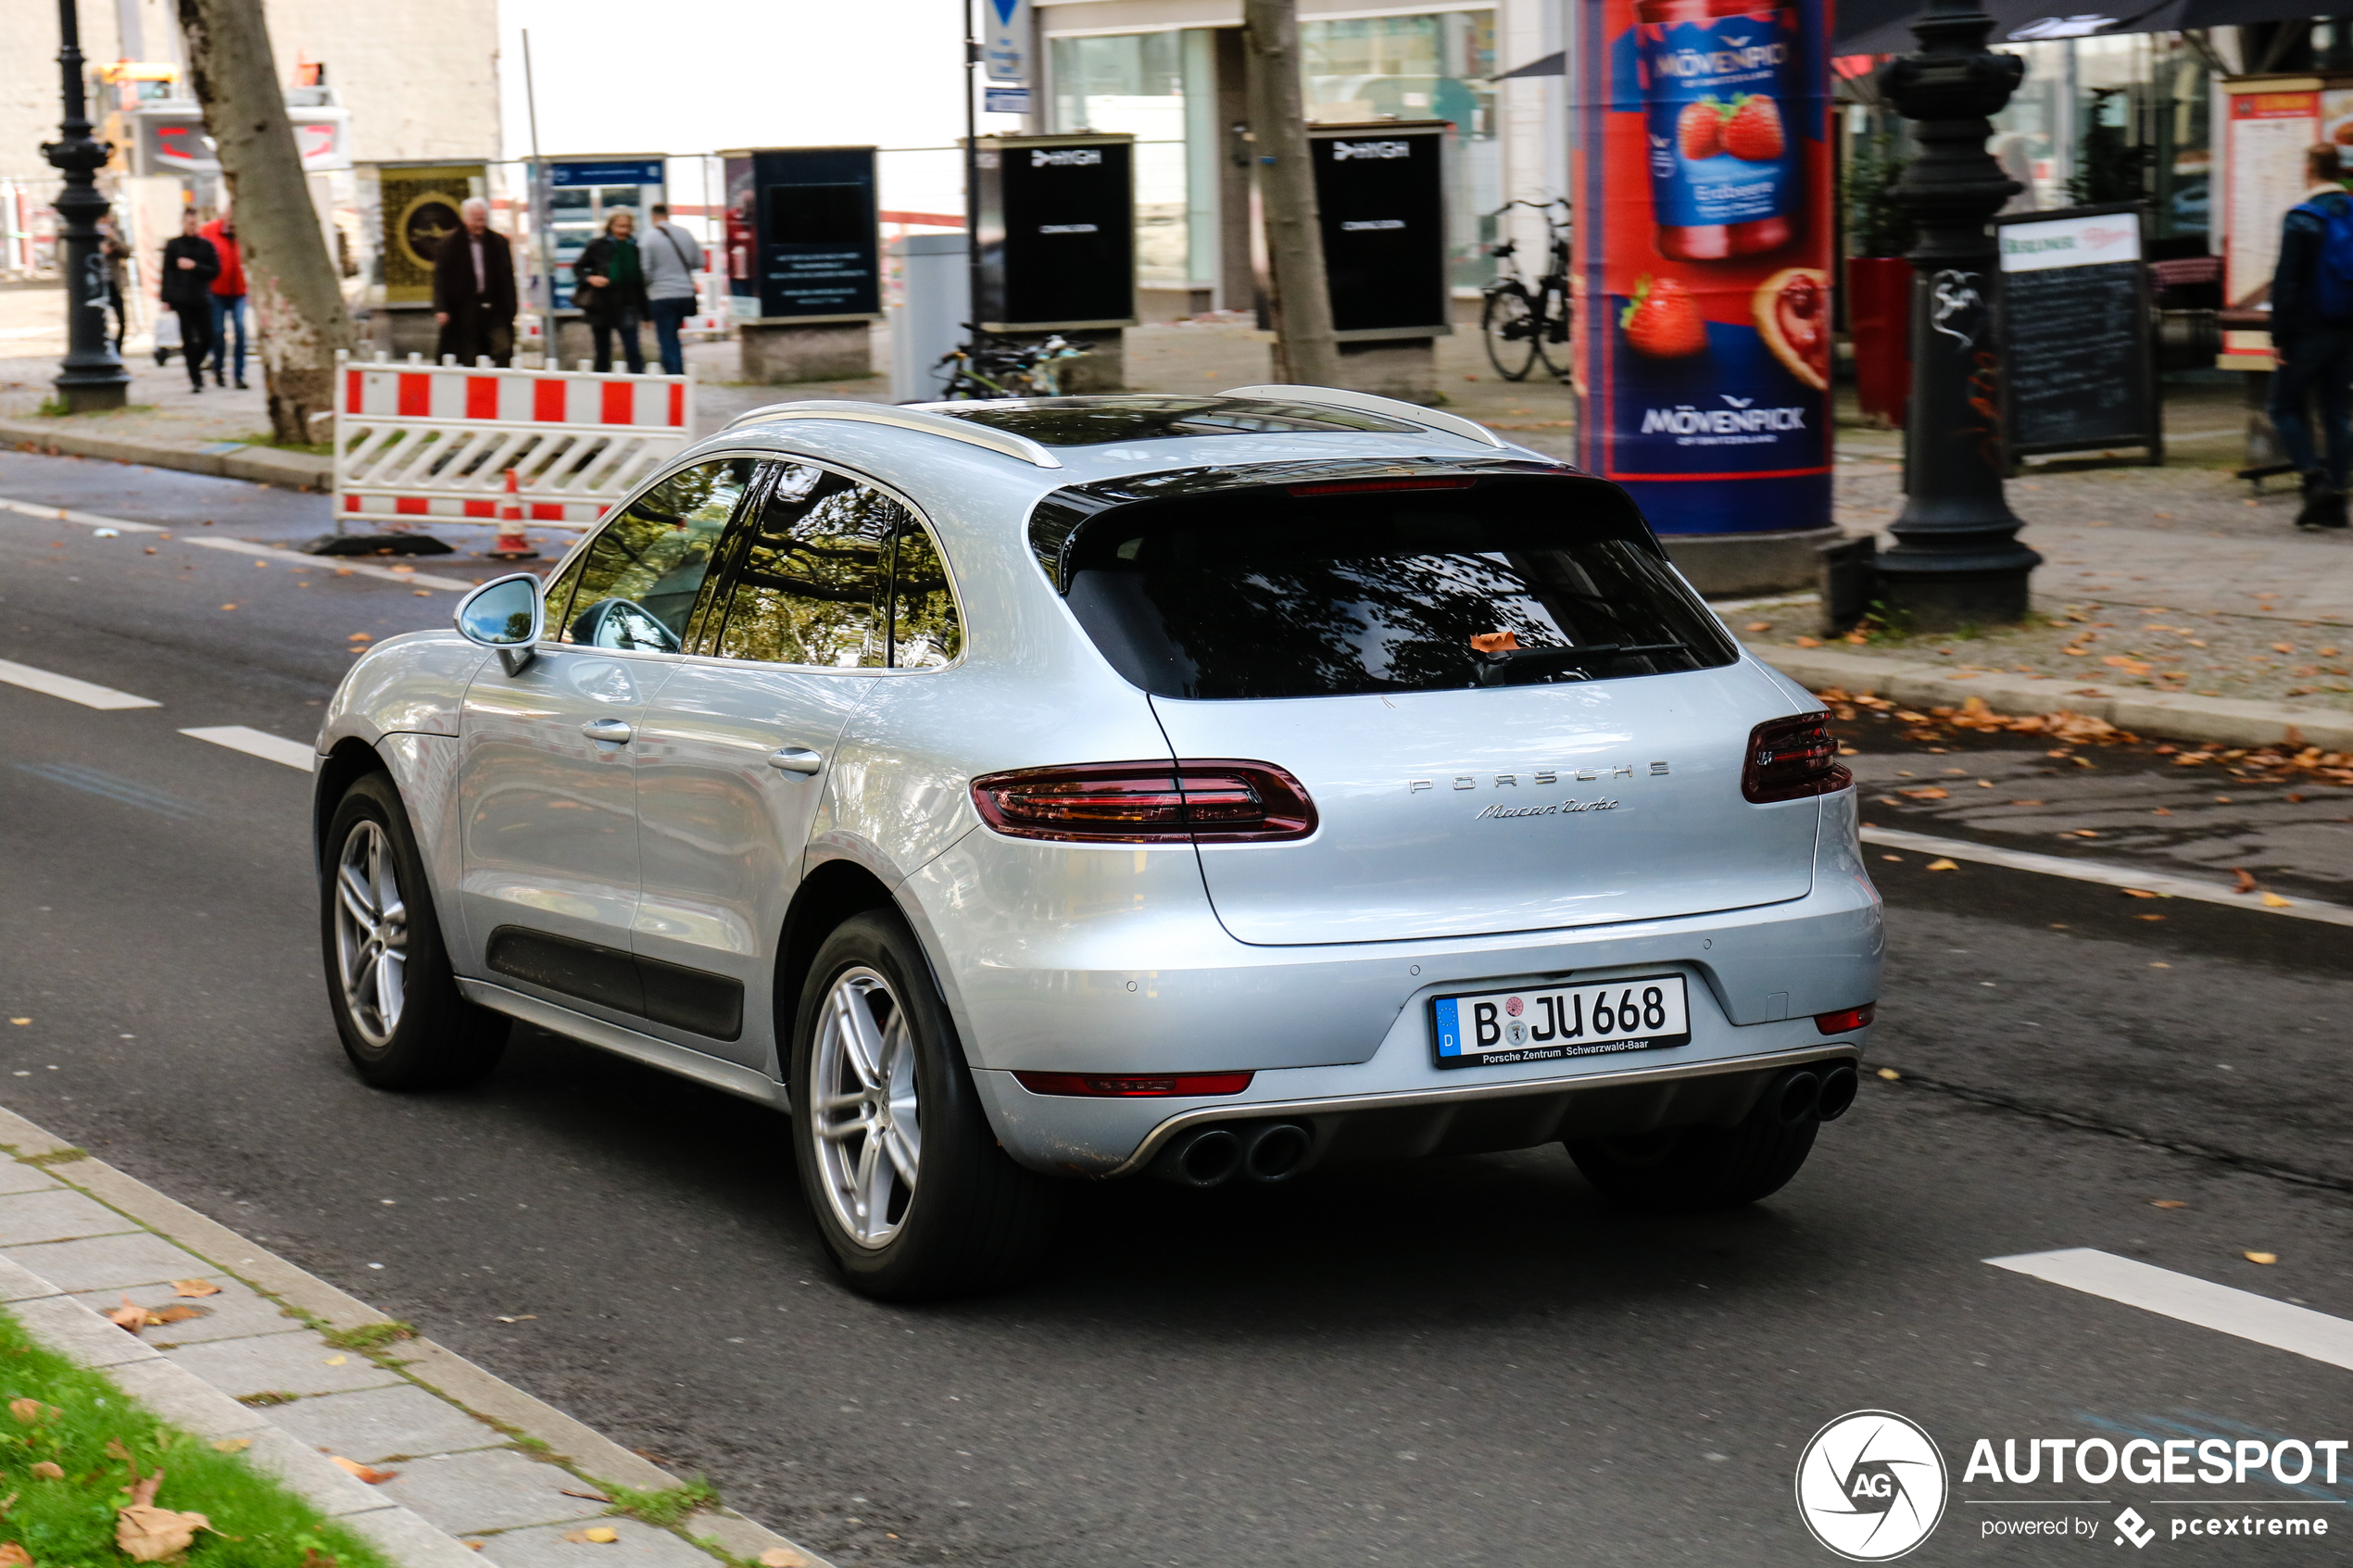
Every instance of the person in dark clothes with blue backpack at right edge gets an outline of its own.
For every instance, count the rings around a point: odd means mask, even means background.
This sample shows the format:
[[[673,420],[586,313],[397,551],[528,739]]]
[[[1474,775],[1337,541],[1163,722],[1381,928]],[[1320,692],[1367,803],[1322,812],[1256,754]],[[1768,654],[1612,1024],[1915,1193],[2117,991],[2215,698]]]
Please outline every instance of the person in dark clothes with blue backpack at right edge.
[[[2353,195],[2334,143],[2304,153],[2304,181],[2271,273],[2271,423],[2304,475],[2297,527],[2341,529],[2353,470]],[[2318,444],[2311,404],[2320,404]]]

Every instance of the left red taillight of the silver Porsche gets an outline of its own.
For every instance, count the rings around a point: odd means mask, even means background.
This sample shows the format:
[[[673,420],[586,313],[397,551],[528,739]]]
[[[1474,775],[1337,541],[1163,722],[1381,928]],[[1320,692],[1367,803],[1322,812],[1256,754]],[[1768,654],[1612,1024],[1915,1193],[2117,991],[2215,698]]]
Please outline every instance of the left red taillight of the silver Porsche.
[[[1275,844],[1315,832],[1315,804],[1266,762],[1096,762],[972,780],[981,820],[1016,839]]]

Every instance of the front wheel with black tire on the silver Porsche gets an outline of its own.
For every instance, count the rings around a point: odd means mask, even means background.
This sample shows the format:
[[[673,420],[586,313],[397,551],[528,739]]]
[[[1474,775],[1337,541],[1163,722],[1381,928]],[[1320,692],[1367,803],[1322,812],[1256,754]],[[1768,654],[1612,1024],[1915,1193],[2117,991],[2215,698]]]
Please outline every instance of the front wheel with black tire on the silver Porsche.
[[[456,1088],[499,1065],[511,1020],[456,990],[391,776],[365,773],[336,802],[318,903],[327,1006],[369,1086]]]

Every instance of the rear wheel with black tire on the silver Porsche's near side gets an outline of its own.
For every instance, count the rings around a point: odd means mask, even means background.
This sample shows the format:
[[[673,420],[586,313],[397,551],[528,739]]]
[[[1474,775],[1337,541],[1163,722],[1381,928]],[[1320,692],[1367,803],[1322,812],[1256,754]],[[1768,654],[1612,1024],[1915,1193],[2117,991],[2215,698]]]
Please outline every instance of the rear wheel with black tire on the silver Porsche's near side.
[[[852,1291],[974,1295],[1045,1255],[1054,1182],[998,1147],[932,966],[896,912],[854,914],[816,950],[786,1081],[800,1190]]]

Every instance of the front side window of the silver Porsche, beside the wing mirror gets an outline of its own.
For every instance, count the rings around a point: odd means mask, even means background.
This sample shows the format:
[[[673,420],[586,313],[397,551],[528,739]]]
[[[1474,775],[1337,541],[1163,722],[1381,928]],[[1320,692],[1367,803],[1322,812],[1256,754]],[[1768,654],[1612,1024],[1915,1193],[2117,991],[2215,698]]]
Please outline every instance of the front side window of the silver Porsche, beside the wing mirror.
[[[612,517],[581,555],[562,639],[593,649],[675,654],[711,576],[727,520],[751,484],[755,458],[685,468]],[[572,576],[572,574],[565,574]]]

